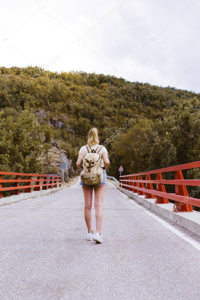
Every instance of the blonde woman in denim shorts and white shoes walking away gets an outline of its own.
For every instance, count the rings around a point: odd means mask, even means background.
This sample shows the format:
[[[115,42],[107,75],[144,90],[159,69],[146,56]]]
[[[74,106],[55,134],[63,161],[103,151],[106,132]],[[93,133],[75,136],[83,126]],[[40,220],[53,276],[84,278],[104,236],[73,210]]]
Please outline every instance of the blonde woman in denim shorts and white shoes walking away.
[[[92,149],[96,150],[99,145],[99,132],[97,128],[91,128],[88,132],[88,144],[89,146],[92,146]],[[87,147],[82,146],[79,150],[79,156],[76,162],[76,166],[81,168],[82,159],[85,156],[85,154],[88,153]],[[110,162],[108,159],[108,151],[106,150],[106,147],[102,147],[99,151],[99,154],[101,156],[101,162],[100,166],[103,168],[103,181],[94,186],[88,186],[86,184],[83,184],[80,182],[80,185],[82,186],[84,198],[85,198],[85,222],[88,227],[88,236],[87,240],[91,241],[94,240],[97,243],[102,243],[102,234],[101,234],[101,223],[103,218],[103,197],[106,190],[107,185],[107,178],[106,178],[106,169],[109,166]],[[95,217],[96,217],[96,233],[93,233],[92,230],[92,217],[91,217],[91,208],[92,208],[92,192],[94,188],[94,207],[95,207]]]

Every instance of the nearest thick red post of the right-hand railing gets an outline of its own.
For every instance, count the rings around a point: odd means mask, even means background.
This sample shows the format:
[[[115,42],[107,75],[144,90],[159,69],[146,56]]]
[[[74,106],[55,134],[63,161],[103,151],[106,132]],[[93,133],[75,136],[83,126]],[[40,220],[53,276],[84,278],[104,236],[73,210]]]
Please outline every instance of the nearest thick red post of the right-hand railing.
[[[181,170],[175,171],[175,179],[184,179]],[[181,196],[189,196],[187,192],[186,185],[175,184],[175,193]],[[182,203],[183,202],[183,203]],[[178,202],[175,201],[173,211],[175,212],[184,212],[184,211],[193,211],[192,205],[185,203],[184,201]]]

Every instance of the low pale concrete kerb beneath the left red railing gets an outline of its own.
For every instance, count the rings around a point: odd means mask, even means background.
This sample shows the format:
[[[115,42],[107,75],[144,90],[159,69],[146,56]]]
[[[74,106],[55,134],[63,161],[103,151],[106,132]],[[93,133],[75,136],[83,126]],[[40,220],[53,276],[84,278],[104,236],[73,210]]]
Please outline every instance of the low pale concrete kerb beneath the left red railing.
[[[61,187],[49,188],[48,190],[32,191],[32,193],[20,193],[19,195],[0,198],[0,205],[13,203],[13,202],[17,202],[29,198],[34,198],[37,196],[45,196],[48,195],[49,193],[57,192],[58,190],[61,190]]]

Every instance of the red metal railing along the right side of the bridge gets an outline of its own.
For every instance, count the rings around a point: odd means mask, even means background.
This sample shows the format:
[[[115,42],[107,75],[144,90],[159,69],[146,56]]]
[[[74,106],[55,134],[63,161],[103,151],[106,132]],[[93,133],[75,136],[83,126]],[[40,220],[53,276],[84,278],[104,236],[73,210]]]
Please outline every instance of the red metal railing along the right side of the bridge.
[[[125,187],[125,189],[128,189],[133,193],[144,195],[145,198],[155,199],[156,204],[169,203],[168,199],[175,200],[175,204],[173,207],[173,210],[175,212],[193,211],[192,205],[200,207],[200,199],[193,198],[193,196],[200,191],[200,180],[185,180],[183,178],[182,170],[194,169],[199,167],[200,161],[196,161],[189,164],[167,167],[158,170],[123,175],[120,176],[120,186]],[[163,179],[162,173],[165,172],[175,172],[175,179]],[[156,174],[156,180],[151,180],[151,174]],[[145,180],[142,179],[142,176],[144,175],[146,177]],[[136,178],[136,176],[138,176],[138,179]],[[146,184],[146,186],[144,186],[144,183]],[[152,184],[156,184],[156,190],[154,190]],[[175,185],[175,193],[167,193],[165,184]],[[197,187],[195,191],[192,191],[192,197],[191,194],[189,197],[186,185]]]

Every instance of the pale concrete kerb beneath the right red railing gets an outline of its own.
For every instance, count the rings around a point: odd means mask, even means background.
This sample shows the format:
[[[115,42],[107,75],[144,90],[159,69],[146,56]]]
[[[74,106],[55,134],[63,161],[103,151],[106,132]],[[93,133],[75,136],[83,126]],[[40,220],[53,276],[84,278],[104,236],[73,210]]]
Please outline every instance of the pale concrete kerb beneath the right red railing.
[[[178,225],[183,226],[200,236],[200,214],[198,212],[174,212],[174,204],[171,202],[169,202],[169,204],[155,204],[155,199],[146,199],[145,196],[140,196],[137,193],[133,193],[123,187],[119,187],[119,184],[117,185],[117,188],[139,203],[145,205],[158,214],[161,214],[163,217],[172,220]]]

